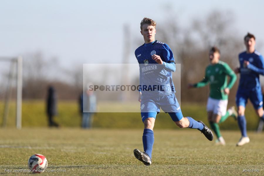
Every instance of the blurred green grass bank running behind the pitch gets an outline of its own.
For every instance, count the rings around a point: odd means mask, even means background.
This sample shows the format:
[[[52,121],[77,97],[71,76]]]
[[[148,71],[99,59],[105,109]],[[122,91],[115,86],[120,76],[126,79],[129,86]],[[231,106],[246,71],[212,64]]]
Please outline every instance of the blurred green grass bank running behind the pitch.
[[[119,107],[122,108],[122,107]],[[206,103],[182,103],[182,113],[184,116],[191,116],[196,120],[202,120],[207,125]],[[2,124],[4,104],[0,102],[0,125]],[[139,110],[139,107],[138,107]],[[8,127],[15,127],[15,104],[11,103]],[[45,113],[45,101],[28,100],[23,101],[22,105],[22,127],[43,127],[48,126]],[[79,114],[77,101],[58,101],[58,113],[54,118],[62,127],[79,127],[81,116]],[[250,104],[246,108],[247,129],[255,130],[258,126],[259,118]],[[156,129],[178,129],[172,123],[170,116],[165,113],[157,115],[155,124]],[[133,124],[133,125],[131,125]],[[94,115],[93,126],[96,128],[142,128],[141,114],[135,113],[97,113]],[[229,118],[220,124],[221,129],[238,130],[237,122]]]

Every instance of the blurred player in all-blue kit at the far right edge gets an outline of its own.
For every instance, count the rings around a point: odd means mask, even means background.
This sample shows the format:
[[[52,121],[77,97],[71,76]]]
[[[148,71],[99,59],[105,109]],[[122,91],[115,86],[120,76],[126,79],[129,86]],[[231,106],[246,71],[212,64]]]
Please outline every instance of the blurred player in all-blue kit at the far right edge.
[[[246,51],[238,56],[240,67],[235,72],[240,73],[239,86],[236,93],[236,105],[238,107],[238,126],[242,137],[237,146],[249,143],[246,129],[245,108],[248,99],[261,120],[264,121],[263,97],[259,82],[259,75],[264,75],[264,61],[262,55],[255,50],[255,36],[248,33],[244,37]]]

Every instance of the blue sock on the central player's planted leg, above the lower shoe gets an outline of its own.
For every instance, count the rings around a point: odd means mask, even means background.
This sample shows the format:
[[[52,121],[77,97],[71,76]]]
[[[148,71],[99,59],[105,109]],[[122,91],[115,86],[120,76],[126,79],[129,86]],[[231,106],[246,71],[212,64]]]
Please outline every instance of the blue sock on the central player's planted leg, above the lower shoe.
[[[147,153],[148,156],[151,158],[152,148],[154,144],[154,133],[151,129],[144,129],[142,141],[145,153]]]

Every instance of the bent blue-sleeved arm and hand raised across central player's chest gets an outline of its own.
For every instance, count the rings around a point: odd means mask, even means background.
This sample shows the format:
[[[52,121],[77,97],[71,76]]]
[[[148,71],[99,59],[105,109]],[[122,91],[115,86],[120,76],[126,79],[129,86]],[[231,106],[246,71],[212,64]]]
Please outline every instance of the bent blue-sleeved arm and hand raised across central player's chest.
[[[152,55],[152,59],[155,60],[158,64],[163,65],[166,71],[175,72],[176,66],[175,66],[172,50],[165,43],[161,47],[161,56],[163,57],[165,62],[161,59],[159,55]]]

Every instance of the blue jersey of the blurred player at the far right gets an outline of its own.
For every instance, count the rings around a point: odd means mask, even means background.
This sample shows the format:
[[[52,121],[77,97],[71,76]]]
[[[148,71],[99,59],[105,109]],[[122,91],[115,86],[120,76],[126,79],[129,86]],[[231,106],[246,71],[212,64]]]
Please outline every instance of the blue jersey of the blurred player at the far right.
[[[254,53],[240,53],[240,91],[251,91],[255,88],[260,88],[259,75],[264,75],[264,61],[262,55],[256,50]],[[249,65],[244,67],[244,61],[249,61]]]

